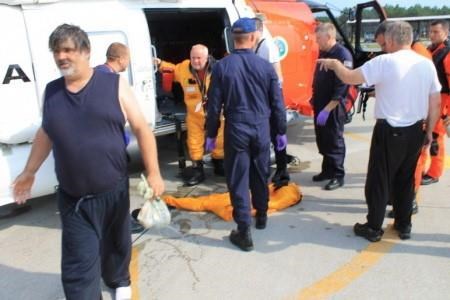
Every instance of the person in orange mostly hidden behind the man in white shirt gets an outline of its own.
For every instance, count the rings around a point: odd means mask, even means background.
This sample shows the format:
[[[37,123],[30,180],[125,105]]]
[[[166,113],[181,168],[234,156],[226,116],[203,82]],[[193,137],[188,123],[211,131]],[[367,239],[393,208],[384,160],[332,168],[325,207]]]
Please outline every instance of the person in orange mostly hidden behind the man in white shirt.
[[[386,25],[389,21],[383,21],[378,25],[377,30],[375,31],[375,41],[380,45],[381,50],[383,52],[386,52],[386,41],[384,34],[386,32]],[[431,53],[427,50],[427,48],[417,39],[414,39],[411,44],[411,49],[416,52],[417,54],[420,54],[428,59],[432,59]],[[419,206],[417,205],[416,201],[416,195],[420,187],[420,182],[422,180],[423,170],[425,169],[425,162],[426,157],[424,153],[426,153],[427,150],[422,150],[422,154],[419,157],[419,160],[417,161],[416,170],[414,173],[414,200],[413,200],[413,209],[412,213],[417,214],[419,212]],[[392,199],[389,200],[389,203],[392,205]],[[395,213],[394,210],[389,211],[388,215],[389,218],[394,218]]]

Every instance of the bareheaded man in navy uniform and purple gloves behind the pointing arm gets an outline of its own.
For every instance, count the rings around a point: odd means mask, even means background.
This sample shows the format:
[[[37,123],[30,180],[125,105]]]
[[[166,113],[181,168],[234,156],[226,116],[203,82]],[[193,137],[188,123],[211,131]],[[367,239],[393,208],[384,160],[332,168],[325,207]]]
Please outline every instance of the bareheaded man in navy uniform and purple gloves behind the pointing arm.
[[[350,52],[336,43],[336,28],[330,23],[321,23],[316,28],[320,58],[335,58],[352,68]],[[345,97],[348,85],[334,72],[316,68],[313,82],[312,106],[314,129],[319,153],[322,154],[322,170],[313,176],[313,181],[330,180],[325,190],[334,190],[344,184],[344,123]]]

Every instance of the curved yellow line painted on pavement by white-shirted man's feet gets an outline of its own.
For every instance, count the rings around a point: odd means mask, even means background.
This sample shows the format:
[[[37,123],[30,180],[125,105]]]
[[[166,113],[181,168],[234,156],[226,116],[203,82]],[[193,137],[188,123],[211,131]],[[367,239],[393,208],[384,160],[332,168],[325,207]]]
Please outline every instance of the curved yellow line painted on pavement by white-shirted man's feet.
[[[416,200],[420,202],[420,192],[417,193]],[[377,264],[399,241],[393,224],[389,224],[381,241],[370,243],[366,249],[353,257],[348,263],[309,287],[302,289],[297,299],[326,299],[336,294]]]

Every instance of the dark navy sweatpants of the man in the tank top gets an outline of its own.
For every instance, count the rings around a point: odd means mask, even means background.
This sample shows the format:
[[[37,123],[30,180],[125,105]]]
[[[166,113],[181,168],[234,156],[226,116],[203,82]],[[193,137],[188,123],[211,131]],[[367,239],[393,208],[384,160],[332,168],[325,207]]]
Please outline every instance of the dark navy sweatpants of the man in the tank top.
[[[101,299],[100,277],[111,288],[130,285],[128,178],[113,190],[73,198],[58,191],[62,223],[61,277],[68,300]]]

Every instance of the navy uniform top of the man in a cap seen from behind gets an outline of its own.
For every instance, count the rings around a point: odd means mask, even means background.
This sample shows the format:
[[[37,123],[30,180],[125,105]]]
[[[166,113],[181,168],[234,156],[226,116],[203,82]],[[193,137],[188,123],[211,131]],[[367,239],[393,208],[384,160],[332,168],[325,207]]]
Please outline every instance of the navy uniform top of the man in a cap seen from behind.
[[[273,66],[251,49],[237,49],[215,64],[208,90],[207,136],[216,137],[220,112],[226,122],[260,124],[286,133],[286,112]]]

